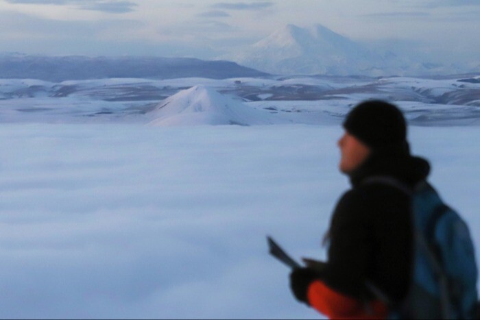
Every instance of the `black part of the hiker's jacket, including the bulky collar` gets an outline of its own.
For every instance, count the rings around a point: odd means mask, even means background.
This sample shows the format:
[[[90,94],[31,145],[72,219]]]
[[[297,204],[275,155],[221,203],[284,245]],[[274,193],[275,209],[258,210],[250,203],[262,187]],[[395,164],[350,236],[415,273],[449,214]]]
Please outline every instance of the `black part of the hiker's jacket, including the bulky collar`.
[[[333,290],[368,299],[371,282],[393,302],[407,293],[413,261],[413,222],[409,197],[374,176],[391,176],[415,186],[429,175],[427,161],[373,154],[350,175],[352,189],[341,197],[328,234],[328,260],[322,282]]]

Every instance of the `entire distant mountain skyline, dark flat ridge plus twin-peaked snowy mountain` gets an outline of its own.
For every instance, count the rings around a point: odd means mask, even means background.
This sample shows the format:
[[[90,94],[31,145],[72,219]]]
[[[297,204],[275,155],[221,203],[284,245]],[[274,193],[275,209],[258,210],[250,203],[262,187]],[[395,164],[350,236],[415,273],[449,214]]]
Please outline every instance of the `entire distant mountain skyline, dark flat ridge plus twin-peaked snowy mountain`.
[[[415,47],[373,49],[322,25],[287,25],[243,50],[215,61],[194,58],[27,56],[0,54],[0,78],[50,82],[104,78],[173,79],[265,75],[437,76],[479,73],[480,62],[440,64]],[[423,58],[420,58],[423,57]],[[480,60],[479,60],[480,61]]]

